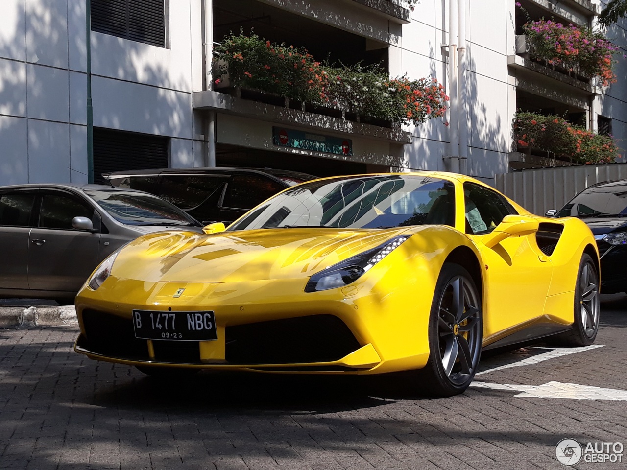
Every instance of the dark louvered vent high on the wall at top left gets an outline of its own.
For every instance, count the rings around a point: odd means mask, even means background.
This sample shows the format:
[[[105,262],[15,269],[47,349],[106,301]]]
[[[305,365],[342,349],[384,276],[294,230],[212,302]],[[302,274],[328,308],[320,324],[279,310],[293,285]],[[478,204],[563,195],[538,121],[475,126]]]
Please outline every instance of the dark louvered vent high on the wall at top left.
[[[92,31],[166,46],[164,0],[91,0]]]

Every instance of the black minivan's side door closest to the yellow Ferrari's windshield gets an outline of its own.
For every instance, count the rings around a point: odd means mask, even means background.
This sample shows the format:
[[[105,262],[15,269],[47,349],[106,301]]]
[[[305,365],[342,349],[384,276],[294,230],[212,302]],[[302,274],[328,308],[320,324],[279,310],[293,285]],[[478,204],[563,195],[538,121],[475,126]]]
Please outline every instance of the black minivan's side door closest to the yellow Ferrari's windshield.
[[[233,222],[283,189],[284,185],[263,175],[233,175],[220,204],[220,220]]]

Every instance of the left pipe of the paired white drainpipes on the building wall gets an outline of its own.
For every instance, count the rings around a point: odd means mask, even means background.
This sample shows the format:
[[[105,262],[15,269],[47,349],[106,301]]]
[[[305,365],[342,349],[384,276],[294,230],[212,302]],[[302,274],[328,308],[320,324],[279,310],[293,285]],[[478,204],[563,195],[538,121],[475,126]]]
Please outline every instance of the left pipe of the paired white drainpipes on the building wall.
[[[458,33],[458,0],[448,0],[448,96],[449,96],[449,137],[450,137],[450,170],[460,172],[460,134],[459,134],[459,103],[457,100],[457,33]]]

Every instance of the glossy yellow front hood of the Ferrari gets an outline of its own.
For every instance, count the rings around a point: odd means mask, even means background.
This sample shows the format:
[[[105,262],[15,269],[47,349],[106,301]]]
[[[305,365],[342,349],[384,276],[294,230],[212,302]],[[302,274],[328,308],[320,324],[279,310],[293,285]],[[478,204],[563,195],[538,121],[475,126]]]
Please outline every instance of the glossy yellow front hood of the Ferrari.
[[[154,233],[127,245],[115,260],[112,275],[149,282],[305,278],[394,236],[421,228]]]

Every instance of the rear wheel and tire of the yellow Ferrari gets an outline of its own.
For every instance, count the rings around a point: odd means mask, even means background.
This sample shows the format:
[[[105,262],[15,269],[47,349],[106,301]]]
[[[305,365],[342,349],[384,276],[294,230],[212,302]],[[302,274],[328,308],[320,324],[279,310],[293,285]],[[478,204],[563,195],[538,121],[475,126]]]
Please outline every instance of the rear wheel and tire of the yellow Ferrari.
[[[564,346],[589,346],[594,343],[599,330],[600,303],[599,273],[591,256],[584,253],[577,272],[572,328],[569,332],[556,335],[556,342]]]

